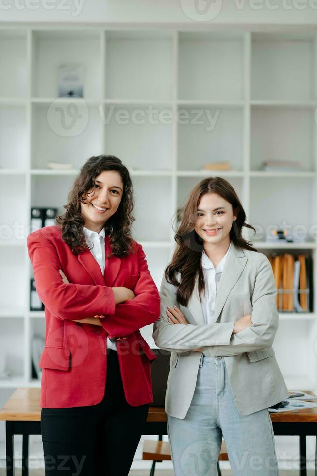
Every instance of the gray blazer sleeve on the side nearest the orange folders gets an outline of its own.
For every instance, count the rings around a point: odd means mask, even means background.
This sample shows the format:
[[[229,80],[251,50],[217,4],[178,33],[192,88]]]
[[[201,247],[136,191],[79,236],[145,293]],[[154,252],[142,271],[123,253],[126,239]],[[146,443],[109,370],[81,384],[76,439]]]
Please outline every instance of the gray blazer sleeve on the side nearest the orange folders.
[[[234,356],[271,346],[279,324],[276,294],[271,264],[265,255],[258,253],[251,300],[253,326],[234,334],[229,345],[205,347],[203,353],[208,357]]]

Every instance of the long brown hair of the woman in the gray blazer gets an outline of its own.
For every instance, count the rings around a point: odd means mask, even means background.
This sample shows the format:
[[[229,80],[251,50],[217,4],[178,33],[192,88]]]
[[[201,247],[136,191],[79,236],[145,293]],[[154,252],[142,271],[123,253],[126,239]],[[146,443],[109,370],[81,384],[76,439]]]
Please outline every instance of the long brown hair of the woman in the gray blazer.
[[[181,222],[174,237],[177,246],[171,263],[165,270],[166,280],[177,286],[177,301],[183,306],[187,306],[192,295],[195,279],[198,275],[199,295],[205,291],[205,282],[201,267],[201,255],[203,251],[203,240],[196,233],[194,227],[197,216],[197,206],[200,199],[206,193],[217,193],[232,205],[236,220],[233,221],[229,236],[234,245],[247,250],[257,251],[241,235],[243,226],[255,228],[246,223],[246,214],[241,205],[239,197],[234,188],[227,180],[221,177],[208,177],[201,180],[191,191],[186,204],[181,210]],[[181,283],[177,280],[177,274],[181,274]]]

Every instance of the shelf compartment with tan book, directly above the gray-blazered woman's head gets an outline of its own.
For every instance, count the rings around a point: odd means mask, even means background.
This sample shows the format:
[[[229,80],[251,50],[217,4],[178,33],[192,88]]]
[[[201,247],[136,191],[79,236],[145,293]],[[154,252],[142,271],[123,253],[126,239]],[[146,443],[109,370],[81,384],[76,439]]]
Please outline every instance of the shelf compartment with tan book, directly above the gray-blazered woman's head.
[[[177,121],[178,170],[204,172],[205,163],[221,161],[230,162],[232,169],[228,172],[242,169],[242,108],[187,105],[178,109]],[[221,174],[221,170],[208,172],[210,175]]]

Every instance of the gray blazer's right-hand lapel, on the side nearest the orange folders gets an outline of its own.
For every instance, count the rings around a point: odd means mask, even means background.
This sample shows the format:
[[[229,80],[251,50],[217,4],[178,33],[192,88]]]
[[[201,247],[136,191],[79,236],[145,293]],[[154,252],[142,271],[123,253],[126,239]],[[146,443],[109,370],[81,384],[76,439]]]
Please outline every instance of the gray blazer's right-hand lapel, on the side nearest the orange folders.
[[[217,287],[214,322],[217,321],[227,297],[243,272],[247,261],[248,258],[242,248],[238,248],[232,243]]]

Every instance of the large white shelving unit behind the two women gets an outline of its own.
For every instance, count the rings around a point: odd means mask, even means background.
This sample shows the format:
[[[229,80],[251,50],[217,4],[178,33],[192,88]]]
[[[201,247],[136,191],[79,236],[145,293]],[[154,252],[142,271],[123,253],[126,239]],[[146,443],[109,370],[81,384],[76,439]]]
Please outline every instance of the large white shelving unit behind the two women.
[[[57,98],[57,70],[69,62],[85,67],[84,99]],[[61,209],[92,155],[117,155],[131,171],[134,237],[158,287],[176,210],[203,177],[221,175],[248,223],[310,229],[303,244],[273,245],[260,232],[253,243],[267,255],[311,255],[316,295],[316,33],[25,24],[0,28],[0,70],[0,362],[11,371],[0,394],[39,386],[31,341],[43,332],[44,313],[29,311],[30,208]],[[302,171],[265,172],[265,159],[300,160]],[[49,170],[50,160],[75,169]],[[230,171],[202,169],[225,160]],[[315,309],[280,317],[274,348],[284,378],[316,390]],[[153,344],[152,326],[142,332]]]

